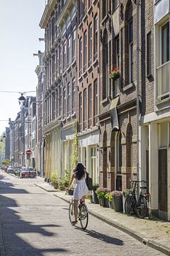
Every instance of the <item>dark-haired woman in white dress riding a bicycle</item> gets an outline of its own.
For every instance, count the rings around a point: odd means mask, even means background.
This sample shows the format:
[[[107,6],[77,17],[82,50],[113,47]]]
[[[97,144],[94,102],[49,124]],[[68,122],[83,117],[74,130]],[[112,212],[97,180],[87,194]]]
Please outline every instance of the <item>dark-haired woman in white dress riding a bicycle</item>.
[[[85,201],[85,196],[89,192],[89,189],[86,186],[86,171],[83,164],[78,163],[76,168],[73,170],[72,180],[69,183],[67,190],[72,186],[72,183],[76,181],[76,186],[74,188],[74,221],[73,224],[77,224],[77,215],[78,215],[78,203],[79,199],[82,198],[82,201]]]

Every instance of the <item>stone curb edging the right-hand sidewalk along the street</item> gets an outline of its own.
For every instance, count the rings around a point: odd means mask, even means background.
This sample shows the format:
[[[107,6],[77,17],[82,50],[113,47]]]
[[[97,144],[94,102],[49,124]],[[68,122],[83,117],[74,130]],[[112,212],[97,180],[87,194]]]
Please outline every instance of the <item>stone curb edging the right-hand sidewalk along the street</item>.
[[[69,201],[65,198],[62,198],[62,196],[59,196],[57,194],[54,194],[57,198],[62,199],[63,201],[69,203]],[[155,242],[154,240],[148,240],[140,233],[137,233],[133,230],[130,230],[130,228],[125,228],[120,223],[116,223],[113,220],[110,220],[108,218],[103,218],[103,215],[100,215],[93,210],[89,210],[89,214],[93,215],[95,218],[98,218],[99,220],[102,220],[103,222],[107,223],[108,225],[112,225],[114,228],[118,228],[119,230],[123,231],[124,233],[127,233],[128,235],[132,236],[132,238],[135,238],[136,240],[142,242],[144,245],[147,245],[149,247],[152,247],[155,250],[158,250],[159,252],[163,252],[165,255],[170,255],[170,248],[166,247],[159,242]]]

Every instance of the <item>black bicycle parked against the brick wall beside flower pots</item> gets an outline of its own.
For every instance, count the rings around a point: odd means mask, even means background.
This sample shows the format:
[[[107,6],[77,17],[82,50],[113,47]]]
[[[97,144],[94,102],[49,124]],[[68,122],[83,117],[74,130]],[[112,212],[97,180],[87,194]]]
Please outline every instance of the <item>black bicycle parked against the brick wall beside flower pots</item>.
[[[125,213],[131,215],[132,213],[137,213],[140,218],[145,218],[147,216],[147,209],[149,203],[149,193],[142,193],[142,189],[147,189],[146,186],[140,186],[140,196],[137,200],[136,188],[139,183],[147,183],[146,181],[132,181],[132,192],[125,199]]]

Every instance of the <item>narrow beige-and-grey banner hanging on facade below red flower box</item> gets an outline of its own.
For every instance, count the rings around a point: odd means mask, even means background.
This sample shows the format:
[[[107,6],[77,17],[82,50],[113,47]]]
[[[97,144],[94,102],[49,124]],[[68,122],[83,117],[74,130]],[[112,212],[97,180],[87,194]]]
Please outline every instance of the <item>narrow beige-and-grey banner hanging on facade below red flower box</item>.
[[[117,132],[120,130],[119,123],[118,123],[118,112],[117,112],[117,105],[118,105],[119,97],[116,97],[111,101],[110,106],[110,113],[111,113],[111,124],[112,124],[112,131]]]

